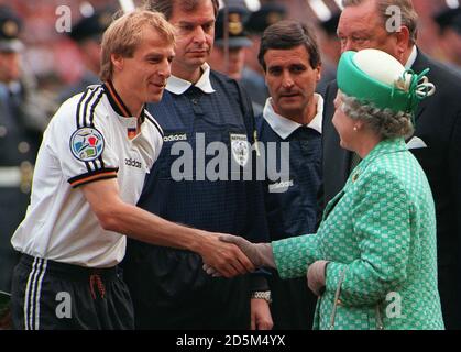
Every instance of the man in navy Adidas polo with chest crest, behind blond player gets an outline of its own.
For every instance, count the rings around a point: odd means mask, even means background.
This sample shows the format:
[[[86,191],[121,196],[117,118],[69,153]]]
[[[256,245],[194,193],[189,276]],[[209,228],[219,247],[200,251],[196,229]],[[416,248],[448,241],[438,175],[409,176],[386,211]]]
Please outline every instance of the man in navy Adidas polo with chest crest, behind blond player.
[[[243,180],[256,157],[246,143],[255,132],[250,99],[206,64],[218,1],[150,6],[178,29],[178,37],[165,95],[149,106],[165,138],[138,205],[194,228],[267,241],[261,185],[251,175]],[[272,327],[262,275],[213,278],[195,253],[138,241],[128,243],[124,270],[139,329]]]

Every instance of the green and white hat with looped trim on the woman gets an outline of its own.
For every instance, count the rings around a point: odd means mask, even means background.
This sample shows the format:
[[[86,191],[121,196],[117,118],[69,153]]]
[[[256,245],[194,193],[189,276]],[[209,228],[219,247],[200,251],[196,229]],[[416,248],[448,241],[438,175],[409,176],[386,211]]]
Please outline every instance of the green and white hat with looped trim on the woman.
[[[337,80],[342,92],[362,103],[414,113],[419,101],[436,90],[425,76],[428,72],[416,75],[389,54],[367,48],[341,55]]]

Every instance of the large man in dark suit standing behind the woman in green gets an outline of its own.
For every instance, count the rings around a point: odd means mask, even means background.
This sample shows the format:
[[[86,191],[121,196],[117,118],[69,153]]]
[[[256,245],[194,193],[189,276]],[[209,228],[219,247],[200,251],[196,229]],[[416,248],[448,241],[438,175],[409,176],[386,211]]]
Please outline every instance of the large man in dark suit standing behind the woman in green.
[[[427,74],[435,96],[419,105],[408,146],[429,179],[437,213],[439,292],[448,329],[461,329],[461,77],[416,46],[417,14],[410,0],[343,0],[338,25],[341,51],[378,48],[407,68]],[[389,8],[389,7],[396,8]],[[386,10],[391,9],[391,15]],[[392,18],[400,11],[402,16]],[[398,15],[398,13],[397,13]],[[402,20],[402,25],[395,26]],[[343,187],[359,162],[340,146],[331,119],[338,87],[326,90],[323,116],[323,191],[327,204]],[[403,302],[405,304],[405,302]]]

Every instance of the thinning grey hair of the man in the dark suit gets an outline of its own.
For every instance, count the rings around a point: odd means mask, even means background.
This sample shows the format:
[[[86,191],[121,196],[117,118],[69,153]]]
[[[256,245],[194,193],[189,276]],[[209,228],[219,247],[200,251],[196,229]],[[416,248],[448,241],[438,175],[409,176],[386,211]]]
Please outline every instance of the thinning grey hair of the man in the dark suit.
[[[402,25],[405,25],[409,31],[409,40],[411,44],[416,44],[418,38],[418,14],[413,7],[411,0],[342,0],[344,8],[356,7],[367,1],[374,1],[377,6],[377,11],[383,21],[383,25],[393,14],[386,14],[389,7],[397,7],[402,13]]]

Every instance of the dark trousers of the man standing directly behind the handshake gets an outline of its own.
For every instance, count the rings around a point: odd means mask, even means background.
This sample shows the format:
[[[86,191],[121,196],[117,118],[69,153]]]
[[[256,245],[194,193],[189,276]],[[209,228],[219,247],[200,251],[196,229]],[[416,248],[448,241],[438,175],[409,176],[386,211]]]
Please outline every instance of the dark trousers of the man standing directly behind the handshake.
[[[211,277],[199,255],[130,241],[122,263],[141,330],[250,328],[250,279]]]

